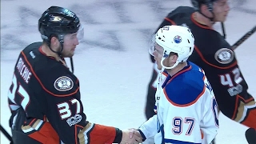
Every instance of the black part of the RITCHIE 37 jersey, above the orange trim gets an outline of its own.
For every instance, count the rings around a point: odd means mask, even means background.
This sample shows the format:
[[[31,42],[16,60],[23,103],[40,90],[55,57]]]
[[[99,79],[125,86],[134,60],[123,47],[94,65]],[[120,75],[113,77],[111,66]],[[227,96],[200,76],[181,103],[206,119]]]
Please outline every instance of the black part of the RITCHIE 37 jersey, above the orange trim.
[[[26,114],[25,122],[21,123],[24,133],[33,131],[26,125],[40,119],[49,121],[63,142],[74,143],[88,123],[83,114],[78,78],[62,62],[47,57],[41,46],[42,42],[35,42],[18,57],[8,94],[13,114],[10,125],[15,125],[17,110],[22,107]],[[42,125],[41,121],[37,122],[34,129]]]

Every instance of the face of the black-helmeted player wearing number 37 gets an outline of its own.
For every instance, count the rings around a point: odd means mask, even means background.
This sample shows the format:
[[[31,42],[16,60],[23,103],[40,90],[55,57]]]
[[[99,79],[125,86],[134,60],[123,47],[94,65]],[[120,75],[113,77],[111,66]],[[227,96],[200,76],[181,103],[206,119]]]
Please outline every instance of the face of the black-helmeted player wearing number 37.
[[[74,50],[78,44],[78,33],[66,34],[64,36],[62,50],[63,58],[71,58],[74,55]]]

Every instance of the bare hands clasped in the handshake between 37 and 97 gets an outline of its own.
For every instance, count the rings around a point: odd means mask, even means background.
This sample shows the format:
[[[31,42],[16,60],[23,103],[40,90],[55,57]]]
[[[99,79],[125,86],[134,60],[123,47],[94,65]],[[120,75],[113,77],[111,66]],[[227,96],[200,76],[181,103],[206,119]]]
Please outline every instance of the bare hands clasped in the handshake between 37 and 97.
[[[122,130],[122,141],[120,144],[139,144],[142,143],[142,136],[135,129]]]

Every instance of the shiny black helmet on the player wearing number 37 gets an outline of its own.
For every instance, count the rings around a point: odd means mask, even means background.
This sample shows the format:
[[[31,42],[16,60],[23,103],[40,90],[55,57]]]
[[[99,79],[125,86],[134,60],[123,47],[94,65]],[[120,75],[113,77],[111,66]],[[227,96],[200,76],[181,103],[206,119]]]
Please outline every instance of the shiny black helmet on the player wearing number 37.
[[[80,21],[74,12],[59,6],[50,6],[38,20],[42,39],[50,42],[52,36],[72,34],[79,30]],[[59,38],[60,42],[63,38]]]

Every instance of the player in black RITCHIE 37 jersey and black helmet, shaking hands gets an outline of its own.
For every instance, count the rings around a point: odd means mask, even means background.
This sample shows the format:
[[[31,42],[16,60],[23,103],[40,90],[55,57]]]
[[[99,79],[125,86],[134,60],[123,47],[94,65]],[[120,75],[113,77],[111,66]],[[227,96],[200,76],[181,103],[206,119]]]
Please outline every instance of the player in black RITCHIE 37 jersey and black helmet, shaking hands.
[[[18,56],[8,93],[14,144],[138,143],[131,130],[86,121],[78,78],[64,58],[71,58],[83,35],[72,11],[51,6],[38,21],[43,42]]]

